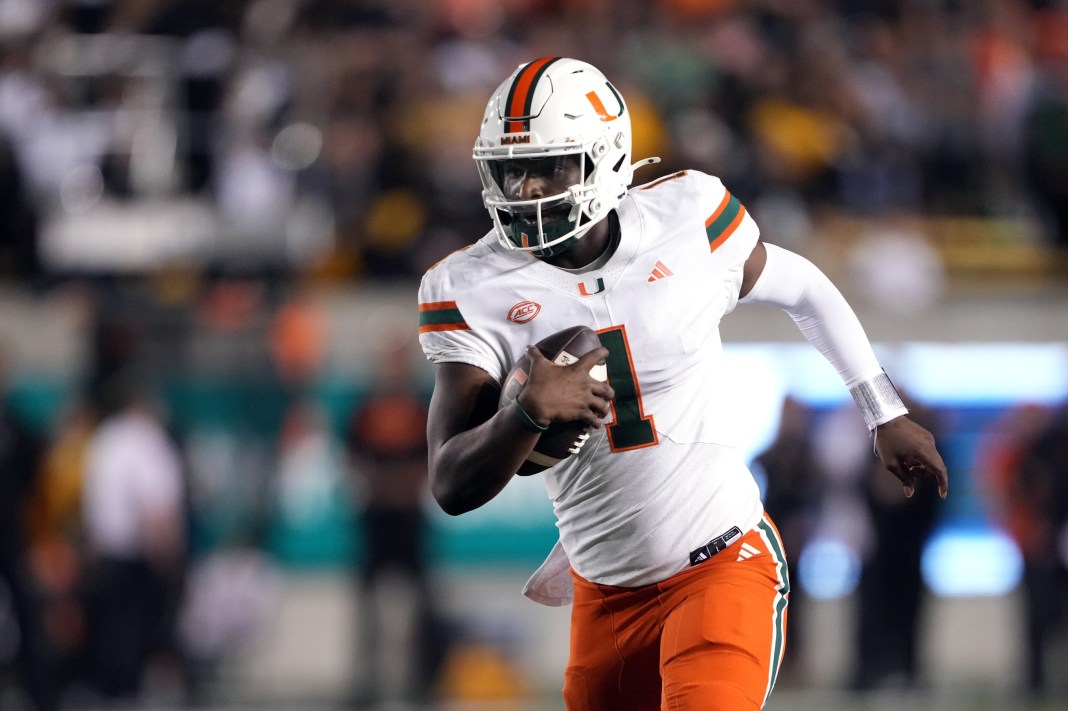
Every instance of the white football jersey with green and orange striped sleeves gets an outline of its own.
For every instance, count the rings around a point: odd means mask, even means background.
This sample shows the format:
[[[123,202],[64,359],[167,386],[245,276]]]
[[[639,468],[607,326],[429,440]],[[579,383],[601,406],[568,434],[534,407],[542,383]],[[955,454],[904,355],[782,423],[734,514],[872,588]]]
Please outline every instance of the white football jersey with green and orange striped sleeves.
[[[541,476],[576,572],[638,586],[763,514],[736,447],[719,333],[758,231],[719,178],[696,171],[632,188],[617,214],[618,248],[592,270],[506,250],[492,232],[450,255],[423,276],[420,342],[430,361],[500,382],[530,344],[579,323],[598,332],[612,414]]]

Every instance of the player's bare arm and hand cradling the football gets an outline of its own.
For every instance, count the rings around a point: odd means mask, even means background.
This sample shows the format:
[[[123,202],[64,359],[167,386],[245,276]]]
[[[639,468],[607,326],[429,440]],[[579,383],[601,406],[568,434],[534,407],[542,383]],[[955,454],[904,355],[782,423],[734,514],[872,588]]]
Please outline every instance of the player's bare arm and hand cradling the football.
[[[531,373],[517,401],[539,425],[584,420],[600,427],[611,389],[591,385],[590,368],[608,350],[595,349],[568,366],[550,363],[531,348]],[[537,443],[514,407],[498,410],[500,386],[486,370],[466,363],[435,366],[427,422],[430,491],[446,514],[478,508],[512,479]]]

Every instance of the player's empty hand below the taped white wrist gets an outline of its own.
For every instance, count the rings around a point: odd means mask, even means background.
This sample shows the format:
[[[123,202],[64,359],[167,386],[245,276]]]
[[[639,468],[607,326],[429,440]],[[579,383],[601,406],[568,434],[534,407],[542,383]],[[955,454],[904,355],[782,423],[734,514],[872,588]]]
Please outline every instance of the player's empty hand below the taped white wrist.
[[[949,493],[949,474],[934,447],[934,437],[907,416],[876,428],[875,451],[883,467],[901,480],[906,496],[911,497],[924,479],[938,486],[942,499]]]

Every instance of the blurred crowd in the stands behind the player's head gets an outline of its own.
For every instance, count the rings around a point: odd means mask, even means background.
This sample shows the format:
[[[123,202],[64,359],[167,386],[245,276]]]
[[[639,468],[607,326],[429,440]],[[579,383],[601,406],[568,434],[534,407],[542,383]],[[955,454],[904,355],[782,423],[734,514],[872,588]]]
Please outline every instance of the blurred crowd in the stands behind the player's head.
[[[1065,244],[1066,37],[1061,0],[4,0],[0,268],[418,275],[485,233],[482,110],[545,53],[779,241],[904,212]]]

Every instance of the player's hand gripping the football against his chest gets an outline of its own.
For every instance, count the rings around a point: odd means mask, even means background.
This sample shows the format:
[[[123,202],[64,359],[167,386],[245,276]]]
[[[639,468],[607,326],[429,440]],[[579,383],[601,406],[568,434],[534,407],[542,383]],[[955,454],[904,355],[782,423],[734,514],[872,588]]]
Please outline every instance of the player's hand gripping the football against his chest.
[[[536,422],[582,421],[591,427],[601,426],[615,392],[607,382],[594,379],[590,370],[608,358],[608,348],[595,348],[570,365],[556,365],[535,346],[528,348],[527,354],[531,372],[519,399]]]

